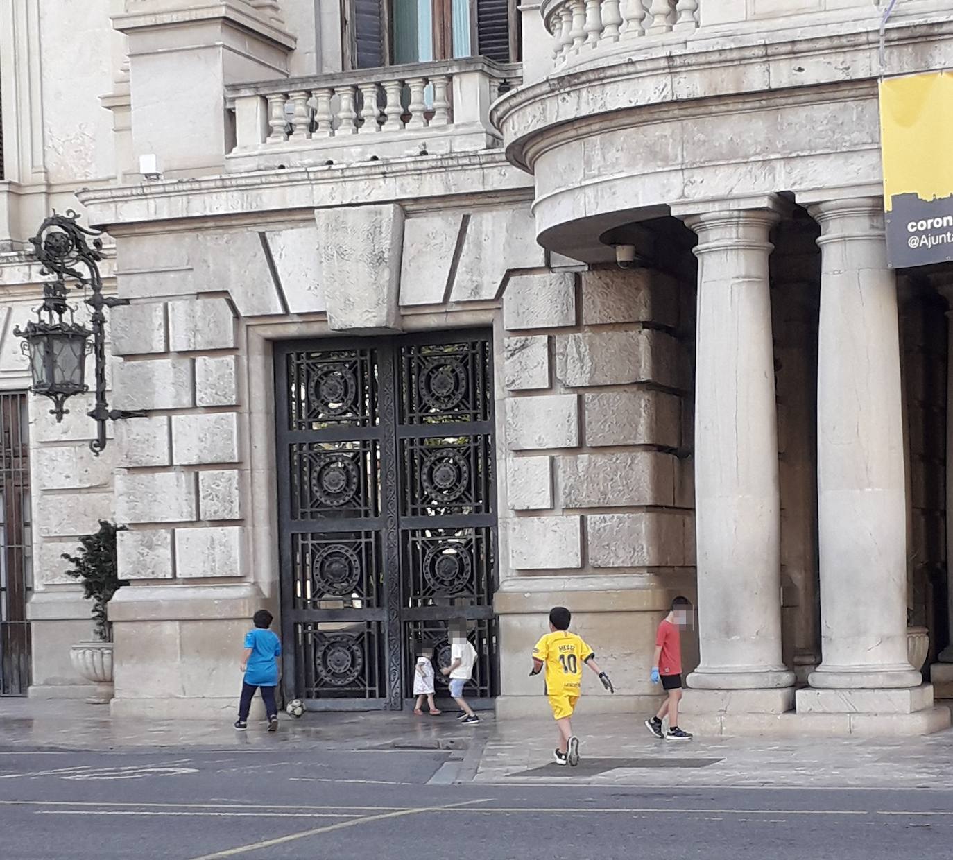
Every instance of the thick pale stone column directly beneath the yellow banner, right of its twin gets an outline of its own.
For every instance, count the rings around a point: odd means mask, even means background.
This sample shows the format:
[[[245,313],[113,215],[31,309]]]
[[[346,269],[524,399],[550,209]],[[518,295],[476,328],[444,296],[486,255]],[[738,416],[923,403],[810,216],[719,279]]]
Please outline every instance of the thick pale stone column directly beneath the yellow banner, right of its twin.
[[[821,224],[822,662],[808,680],[847,690],[918,686],[906,659],[900,339],[881,201],[836,200],[810,211]]]

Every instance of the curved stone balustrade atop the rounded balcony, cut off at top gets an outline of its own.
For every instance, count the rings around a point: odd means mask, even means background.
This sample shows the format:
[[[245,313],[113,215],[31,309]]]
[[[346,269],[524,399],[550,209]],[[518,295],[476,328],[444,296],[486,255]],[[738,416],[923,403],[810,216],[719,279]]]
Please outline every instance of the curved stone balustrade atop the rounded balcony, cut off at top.
[[[711,2],[711,0],[708,0]],[[554,39],[556,66],[624,48],[636,39],[699,26],[701,0],[547,0],[540,12]]]

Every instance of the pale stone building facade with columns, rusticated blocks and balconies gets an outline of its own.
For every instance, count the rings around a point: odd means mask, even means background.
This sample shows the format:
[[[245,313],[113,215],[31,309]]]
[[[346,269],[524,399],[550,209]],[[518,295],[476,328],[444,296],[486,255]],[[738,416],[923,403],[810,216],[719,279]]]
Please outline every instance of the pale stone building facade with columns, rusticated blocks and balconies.
[[[335,4],[101,0],[67,98],[28,84],[69,72],[77,21],[0,0],[0,386],[29,384],[10,333],[43,280],[12,249],[78,206],[131,300],[111,405],[145,413],[97,458],[88,396],[60,423],[30,399],[32,695],[85,694],[60,554],[108,519],[113,710],[230,709],[236,643],[290,587],[274,345],[489,327],[500,715],[541,706],[555,604],[616,682],[589,706],[651,708],[683,594],[690,728],[948,723],[906,624],[953,688],[949,273],[885,265],[882,10],[593,0],[583,51],[567,4],[524,5],[521,67],[411,74],[341,72]],[[953,63],[950,3],[915,7],[886,73]]]

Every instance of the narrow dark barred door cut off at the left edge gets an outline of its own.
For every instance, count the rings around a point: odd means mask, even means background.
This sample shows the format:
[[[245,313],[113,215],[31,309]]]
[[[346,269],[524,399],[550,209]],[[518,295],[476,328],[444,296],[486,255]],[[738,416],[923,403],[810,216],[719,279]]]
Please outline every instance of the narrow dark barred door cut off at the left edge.
[[[0,394],[0,696],[30,686],[29,454],[27,396]]]

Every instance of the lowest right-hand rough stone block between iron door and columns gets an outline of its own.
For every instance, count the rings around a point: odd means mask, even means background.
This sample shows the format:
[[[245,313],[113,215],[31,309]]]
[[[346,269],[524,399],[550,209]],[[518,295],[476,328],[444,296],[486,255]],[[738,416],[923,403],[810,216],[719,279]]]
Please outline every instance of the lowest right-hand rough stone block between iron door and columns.
[[[586,518],[594,567],[680,567],[691,564],[685,530],[689,514],[640,511]]]

